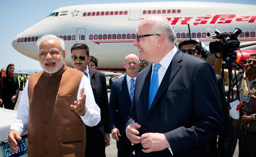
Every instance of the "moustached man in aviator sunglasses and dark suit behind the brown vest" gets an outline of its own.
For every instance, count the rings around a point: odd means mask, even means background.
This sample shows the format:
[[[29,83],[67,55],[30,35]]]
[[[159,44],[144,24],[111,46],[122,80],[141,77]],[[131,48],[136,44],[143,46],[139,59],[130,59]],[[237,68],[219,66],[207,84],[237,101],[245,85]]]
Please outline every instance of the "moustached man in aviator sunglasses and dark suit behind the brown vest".
[[[111,133],[106,76],[100,71],[87,67],[90,58],[89,47],[86,44],[78,43],[71,47],[72,66],[85,73],[89,79],[101,115],[101,120],[97,126],[86,126],[85,156],[106,157],[105,147],[109,145]]]

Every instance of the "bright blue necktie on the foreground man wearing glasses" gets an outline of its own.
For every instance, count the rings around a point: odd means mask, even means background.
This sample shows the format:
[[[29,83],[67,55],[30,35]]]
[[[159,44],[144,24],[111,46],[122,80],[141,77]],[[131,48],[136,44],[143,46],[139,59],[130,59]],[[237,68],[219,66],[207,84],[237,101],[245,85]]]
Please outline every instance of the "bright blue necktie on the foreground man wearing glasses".
[[[161,64],[155,64],[153,75],[150,81],[150,87],[149,87],[149,99],[148,99],[148,110],[151,107],[151,104],[156,96],[156,92],[158,90],[158,69],[161,67]]]

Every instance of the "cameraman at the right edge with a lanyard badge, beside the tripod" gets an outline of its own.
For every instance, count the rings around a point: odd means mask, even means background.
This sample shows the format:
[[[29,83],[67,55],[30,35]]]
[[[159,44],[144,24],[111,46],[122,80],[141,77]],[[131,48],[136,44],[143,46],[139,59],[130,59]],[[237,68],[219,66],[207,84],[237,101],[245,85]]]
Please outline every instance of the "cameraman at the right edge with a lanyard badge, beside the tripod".
[[[222,65],[222,53],[219,54],[220,58],[217,58],[214,64],[214,69],[216,74],[221,75],[221,65]],[[232,71],[233,72],[233,71]],[[246,73],[246,75],[245,75]],[[245,64],[245,73],[242,73],[241,79],[237,75],[237,82],[239,88],[239,97],[241,103],[243,104],[243,116],[239,120],[232,119],[232,131],[233,131],[233,148],[235,150],[237,139],[239,140],[239,157],[246,156],[245,139],[242,130],[242,124],[245,124],[245,134],[247,141],[247,148],[250,149],[249,157],[255,157],[256,155],[256,117],[255,108],[253,102],[256,102],[256,54],[251,54]],[[234,77],[232,77],[234,78]],[[224,80],[228,80],[228,70],[224,69]],[[247,83],[246,83],[247,82]],[[248,85],[248,87],[247,87]],[[234,99],[237,99],[236,85],[233,88]],[[250,94],[248,91],[250,90]],[[246,100],[246,99],[247,100]],[[247,101],[247,102],[246,102]],[[233,153],[234,153],[233,150]]]

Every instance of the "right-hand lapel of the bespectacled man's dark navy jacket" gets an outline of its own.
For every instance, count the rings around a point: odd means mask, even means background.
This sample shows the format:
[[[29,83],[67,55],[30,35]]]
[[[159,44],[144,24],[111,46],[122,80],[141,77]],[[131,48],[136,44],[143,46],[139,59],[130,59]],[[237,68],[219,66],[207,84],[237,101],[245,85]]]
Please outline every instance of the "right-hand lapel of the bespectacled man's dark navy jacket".
[[[169,64],[169,67],[167,68],[167,71],[163,77],[163,80],[158,88],[158,91],[156,92],[156,96],[151,104],[150,110],[148,111],[148,114],[152,111],[152,108],[154,108],[156,102],[160,99],[161,95],[165,91],[166,88],[168,88],[169,84],[173,81],[174,77],[182,67],[180,62],[182,61],[183,53],[182,51],[178,50],[171,63]]]

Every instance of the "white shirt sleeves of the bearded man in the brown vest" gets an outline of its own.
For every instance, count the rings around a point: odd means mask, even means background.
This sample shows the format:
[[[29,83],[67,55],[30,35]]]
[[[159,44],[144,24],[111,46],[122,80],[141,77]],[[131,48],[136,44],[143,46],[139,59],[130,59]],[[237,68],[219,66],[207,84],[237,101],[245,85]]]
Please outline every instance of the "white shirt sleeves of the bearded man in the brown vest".
[[[28,83],[29,80],[26,82],[26,84]],[[83,87],[85,87],[85,106],[87,107],[87,112],[83,116],[80,115],[80,117],[85,125],[96,126],[100,122],[100,108],[94,100],[91,84],[89,82],[89,79],[85,75],[83,75],[78,88],[77,101],[81,97],[80,92]],[[20,135],[28,130],[28,113],[28,85],[26,85],[20,97],[16,120],[13,122],[13,124],[11,124],[11,129],[17,130]]]

